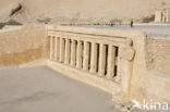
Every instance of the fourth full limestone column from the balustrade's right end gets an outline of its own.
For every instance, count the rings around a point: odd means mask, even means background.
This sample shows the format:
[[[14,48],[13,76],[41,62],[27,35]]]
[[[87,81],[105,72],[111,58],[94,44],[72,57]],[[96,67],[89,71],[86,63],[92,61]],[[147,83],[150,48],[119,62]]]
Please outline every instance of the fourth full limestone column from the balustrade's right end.
[[[83,53],[83,70],[88,70],[89,62],[89,42],[84,42],[84,53]]]

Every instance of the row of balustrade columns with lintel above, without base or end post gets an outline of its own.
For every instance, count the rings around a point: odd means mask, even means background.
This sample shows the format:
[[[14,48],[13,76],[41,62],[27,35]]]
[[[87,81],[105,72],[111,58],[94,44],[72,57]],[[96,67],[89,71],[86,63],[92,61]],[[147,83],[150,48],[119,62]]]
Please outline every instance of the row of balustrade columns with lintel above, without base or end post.
[[[118,69],[122,63],[118,61],[124,37],[49,30],[48,38],[52,61],[109,79],[121,74]]]

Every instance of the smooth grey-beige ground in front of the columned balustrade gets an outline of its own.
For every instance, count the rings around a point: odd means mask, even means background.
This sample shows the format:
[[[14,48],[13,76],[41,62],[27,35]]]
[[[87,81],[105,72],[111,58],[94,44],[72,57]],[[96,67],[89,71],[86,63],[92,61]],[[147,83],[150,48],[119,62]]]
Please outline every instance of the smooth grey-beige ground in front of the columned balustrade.
[[[111,95],[48,67],[0,69],[0,112],[120,112]]]

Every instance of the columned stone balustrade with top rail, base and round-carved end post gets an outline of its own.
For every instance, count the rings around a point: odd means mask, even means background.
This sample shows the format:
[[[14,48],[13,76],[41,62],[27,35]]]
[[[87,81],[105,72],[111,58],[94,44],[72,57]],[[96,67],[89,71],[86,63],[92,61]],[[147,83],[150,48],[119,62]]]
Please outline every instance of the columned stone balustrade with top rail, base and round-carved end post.
[[[70,26],[48,26],[48,65],[113,95],[130,96],[141,63],[145,34]]]

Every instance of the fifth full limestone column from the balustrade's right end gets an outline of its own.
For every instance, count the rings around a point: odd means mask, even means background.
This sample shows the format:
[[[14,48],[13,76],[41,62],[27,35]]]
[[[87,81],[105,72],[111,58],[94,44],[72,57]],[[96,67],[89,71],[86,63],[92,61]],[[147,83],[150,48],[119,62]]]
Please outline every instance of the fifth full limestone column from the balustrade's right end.
[[[77,41],[77,50],[76,50],[76,67],[82,69],[82,62],[83,62],[83,42]]]

